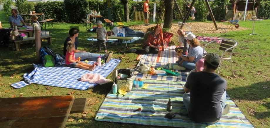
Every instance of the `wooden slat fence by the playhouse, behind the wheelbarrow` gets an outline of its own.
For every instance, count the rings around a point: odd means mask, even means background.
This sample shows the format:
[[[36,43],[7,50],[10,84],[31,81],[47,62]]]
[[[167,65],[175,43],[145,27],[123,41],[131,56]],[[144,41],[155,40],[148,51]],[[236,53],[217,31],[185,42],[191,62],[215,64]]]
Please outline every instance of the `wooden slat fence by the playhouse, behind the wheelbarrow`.
[[[246,20],[252,18],[252,15],[253,15],[252,13],[253,14],[256,13],[256,10],[254,10],[254,11],[252,11],[252,10],[251,11],[247,11]],[[244,15],[245,15],[245,11],[237,11],[235,13],[234,20],[243,21],[244,20]],[[226,10],[224,20],[233,20],[233,10]]]

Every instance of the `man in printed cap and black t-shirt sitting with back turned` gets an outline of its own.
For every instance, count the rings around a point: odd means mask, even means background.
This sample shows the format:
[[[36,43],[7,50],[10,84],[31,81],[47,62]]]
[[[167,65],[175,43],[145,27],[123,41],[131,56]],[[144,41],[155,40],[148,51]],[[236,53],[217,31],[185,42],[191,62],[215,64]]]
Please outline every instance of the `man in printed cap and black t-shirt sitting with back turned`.
[[[183,102],[195,122],[213,124],[230,111],[230,105],[225,105],[227,82],[215,73],[220,60],[215,53],[207,54],[204,71],[192,72],[187,79]]]

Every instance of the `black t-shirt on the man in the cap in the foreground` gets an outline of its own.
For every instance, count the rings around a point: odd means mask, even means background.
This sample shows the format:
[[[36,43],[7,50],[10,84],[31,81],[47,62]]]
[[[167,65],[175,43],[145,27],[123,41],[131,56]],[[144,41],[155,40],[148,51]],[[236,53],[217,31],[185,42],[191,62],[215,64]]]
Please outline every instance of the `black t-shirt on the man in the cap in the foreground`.
[[[189,117],[195,122],[214,122],[222,116],[220,100],[225,79],[214,73],[191,72],[185,87],[190,89]]]

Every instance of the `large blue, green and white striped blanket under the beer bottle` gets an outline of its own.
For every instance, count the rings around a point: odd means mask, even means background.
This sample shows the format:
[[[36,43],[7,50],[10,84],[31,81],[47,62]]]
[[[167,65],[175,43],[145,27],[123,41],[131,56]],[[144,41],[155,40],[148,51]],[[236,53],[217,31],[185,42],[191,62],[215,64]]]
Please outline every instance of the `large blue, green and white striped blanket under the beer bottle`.
[[[176,115],[172,120],[165,118],[168,99],[171,98],[172,112],[186,113],[183,104],[185,82],[144,80],[149,84],[146,89],[132,89],[126,95],[107,94],[97,112],[95,120],[170,127],[230,127],[251,128],[239,108],[227,96],[226,104],[231,105],[230,112],[223,115],[215,124],[202,124],[191,121],[188,116]],[[142,110],[135,111],[141,108]]]

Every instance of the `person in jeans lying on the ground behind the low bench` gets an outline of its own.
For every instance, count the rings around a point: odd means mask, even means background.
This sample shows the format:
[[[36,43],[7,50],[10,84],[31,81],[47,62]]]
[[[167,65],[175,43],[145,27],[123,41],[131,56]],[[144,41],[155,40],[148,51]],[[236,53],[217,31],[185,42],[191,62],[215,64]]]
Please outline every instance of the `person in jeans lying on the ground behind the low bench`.
[[[134,31],[128,27],[113,27],[112,31],[107,32],[109,36],[117,36],[117,33],[123,33],[124,37],[144,37],[144,32]]]

